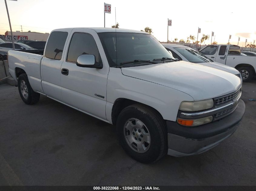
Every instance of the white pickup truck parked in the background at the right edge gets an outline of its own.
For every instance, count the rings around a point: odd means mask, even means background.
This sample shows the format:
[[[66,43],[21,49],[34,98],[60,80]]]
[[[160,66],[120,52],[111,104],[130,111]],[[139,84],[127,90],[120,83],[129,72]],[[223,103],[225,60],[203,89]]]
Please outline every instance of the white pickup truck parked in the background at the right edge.
[[[240,46],[208,45],[200,52],[215,62],[236,68],[240,72],[243,82],[250,81],[256,74],[256,57],[242,56]]]

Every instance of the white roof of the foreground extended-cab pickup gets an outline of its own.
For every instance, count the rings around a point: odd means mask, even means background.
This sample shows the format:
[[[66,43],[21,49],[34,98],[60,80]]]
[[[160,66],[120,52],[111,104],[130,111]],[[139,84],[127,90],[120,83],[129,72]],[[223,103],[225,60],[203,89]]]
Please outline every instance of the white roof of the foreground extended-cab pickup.
[[[63,30],[63,29],[92,29],[95,30],[97,33],[104,33],[104,32],[118,32],[118,33],[144,33],[148,34],[143,31],[139,30],[130,30],[130,29],[120,29],[120,28],[103,28],[103,27],[75,27],[75,28],[62,28],[62,29],[55,29],[53,31]]]

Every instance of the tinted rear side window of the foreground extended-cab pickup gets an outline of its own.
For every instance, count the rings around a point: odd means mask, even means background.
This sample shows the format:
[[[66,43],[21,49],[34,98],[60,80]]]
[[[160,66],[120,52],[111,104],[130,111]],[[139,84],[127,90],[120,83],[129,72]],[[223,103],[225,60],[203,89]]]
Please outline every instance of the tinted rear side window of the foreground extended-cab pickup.
[[[60,60],[67,36],[67,32],[52,32],[45,48],[45,57]]]

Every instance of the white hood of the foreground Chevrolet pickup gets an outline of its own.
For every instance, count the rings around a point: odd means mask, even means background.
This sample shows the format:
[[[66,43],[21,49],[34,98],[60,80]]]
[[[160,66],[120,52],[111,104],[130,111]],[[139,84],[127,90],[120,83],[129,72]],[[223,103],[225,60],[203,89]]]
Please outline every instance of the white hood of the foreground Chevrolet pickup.
[[[241,79],[231,73],[185,61],[126,67],[121,71],[126,76],[182,91],[195,101],[232,93],[242,85]]]

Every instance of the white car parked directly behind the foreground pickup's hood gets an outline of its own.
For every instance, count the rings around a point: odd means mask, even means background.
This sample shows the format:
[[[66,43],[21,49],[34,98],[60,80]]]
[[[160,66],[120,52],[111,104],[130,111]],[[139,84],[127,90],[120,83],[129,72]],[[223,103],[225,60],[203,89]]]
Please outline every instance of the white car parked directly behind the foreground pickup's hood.
[[[229,72],[241,78],[240,73],[237,69],[232,68],[230,66],[213,62],[211,59],[204,56],[202,53],[198,52],[197,50],[190,48],[188,46],[183,46],[179,44],[170,44],[170,43],[162,43],[162,45],[171,52],[174,58],[179,60],[192,62],[204,66],[209,66],[212,68],[217,68],[219,70],[223,70],[225,72]]]

